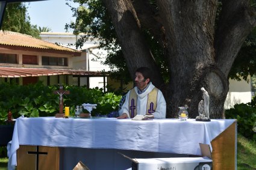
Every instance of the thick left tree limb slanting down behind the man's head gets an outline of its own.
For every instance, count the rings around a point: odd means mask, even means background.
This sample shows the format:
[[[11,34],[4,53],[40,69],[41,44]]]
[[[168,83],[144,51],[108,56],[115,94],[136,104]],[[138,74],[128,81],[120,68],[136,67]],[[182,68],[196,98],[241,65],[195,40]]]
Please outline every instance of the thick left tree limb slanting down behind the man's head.
[[[152,79],[156,87],[163,86],[163,79],[147,46],[146,40],[140,31],[140,22],[130,0],[104,0],[105,5],[113,20],[117,38],[123,50],[123,55],[128,65],[131,77],[135,70],[146,66],[152,70]]]

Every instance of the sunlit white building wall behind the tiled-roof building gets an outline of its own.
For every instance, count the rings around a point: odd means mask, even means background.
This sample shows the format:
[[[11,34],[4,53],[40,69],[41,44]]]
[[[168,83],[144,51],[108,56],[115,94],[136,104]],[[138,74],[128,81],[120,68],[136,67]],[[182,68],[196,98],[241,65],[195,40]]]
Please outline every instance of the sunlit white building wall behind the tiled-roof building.
[[[42,32],[40,37],[44,41],[51,43],[61,44],[62,46],[70,47],[76,49],[75,46],[70,44],[75,44],[76,40],[79,38],[70,32]],[[73,56],[72,58],[72,68],[76,70],[86,70],[86,71],[108,71],[110,68],[107,65],[101,64],[104,61],[104,57],[107,55],[105,50],[98,49],[97,40],[86,41],[83,47],[77,50],[82,50],[81,56]],[[75,81],[75,79],[74,79]],[[103,87],[104,77],[90,77],[89,84],[90,88]],[[80,85],[86,85],[86,77],[81,77]],[[107,84],[107,79],[106,79]]]

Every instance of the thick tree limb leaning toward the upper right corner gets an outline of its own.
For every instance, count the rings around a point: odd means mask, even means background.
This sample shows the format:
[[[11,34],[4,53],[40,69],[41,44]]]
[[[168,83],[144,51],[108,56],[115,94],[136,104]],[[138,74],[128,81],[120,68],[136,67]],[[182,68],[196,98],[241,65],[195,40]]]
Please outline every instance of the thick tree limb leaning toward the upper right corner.
[[[226,77],[243,42],[256,24],[255,9],[248,0],[222,1],[215,34],[216,64]],[[227,62],[228,61],[228,62]]]

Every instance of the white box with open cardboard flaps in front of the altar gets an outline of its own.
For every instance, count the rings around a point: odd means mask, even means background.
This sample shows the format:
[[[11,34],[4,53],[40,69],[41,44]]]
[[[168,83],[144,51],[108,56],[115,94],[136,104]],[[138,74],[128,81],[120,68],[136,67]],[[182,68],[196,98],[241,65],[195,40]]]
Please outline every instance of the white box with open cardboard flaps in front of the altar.
[[[212,170],[213,160],[211,159],[210,146],[199,144],[202,157],[168,157],[151,159],[131,159],[132,170]]]

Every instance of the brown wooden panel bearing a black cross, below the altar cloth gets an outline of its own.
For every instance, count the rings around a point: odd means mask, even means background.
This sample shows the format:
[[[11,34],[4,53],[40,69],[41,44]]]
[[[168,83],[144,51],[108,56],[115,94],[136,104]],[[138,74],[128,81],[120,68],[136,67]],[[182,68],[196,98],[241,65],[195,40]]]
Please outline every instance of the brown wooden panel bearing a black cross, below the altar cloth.
[[[59,166],[58,147],[20,145],[17,150],[17,169],[19,170],[57,170]]]

